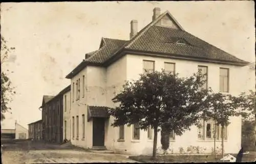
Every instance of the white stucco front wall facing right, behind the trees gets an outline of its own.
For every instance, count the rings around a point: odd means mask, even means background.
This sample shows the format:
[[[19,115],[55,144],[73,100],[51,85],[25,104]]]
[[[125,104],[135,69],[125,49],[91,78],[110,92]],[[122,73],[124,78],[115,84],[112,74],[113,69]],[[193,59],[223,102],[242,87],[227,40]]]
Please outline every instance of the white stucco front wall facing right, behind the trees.
[[[161,69],[164,68],[164,62],[175,63],[176,73],[179,73],[181,77],[189,77],[193,75],[193,73],[196,73],[198,71],[198,65],[207,66],[208,87],[211,87],[214,92],[219,92],[220,67],[229,68],[229,93],[238,95],[245,90],[242,84],[245,84],[246,78],[241,78],[241,75],[245,74],[245,70],[238,66],[147,57],[134,54],[127,54],[126,56],[127,79],[139,78],[139,74],[143,71],[143,60],[155,61],[155,70],[157,71],[161,71]],[[241,117],[230,118],[230,122],[231,124],[227,128],[228,140],[224,142],[224,152],[238,153],[241,148]],[[160,135],[158,136],[159,138],[161,137]],[[218,146],[220,148],[220,144],[221,142],[217,141],[216,147]],[[180,153],[180,147],[186,150],[189,146],[199,146],[200,149],[203,149],[202,153],[211,153],[214,142],[199,141],[197,139],[197,127],[193,126],[190,131],[184,132],[182,136],[176,136],[175,141],[170,143],[170,148],[173,148],[173,153]],[[159,147],[160,145],[158,145],[158,148]]]

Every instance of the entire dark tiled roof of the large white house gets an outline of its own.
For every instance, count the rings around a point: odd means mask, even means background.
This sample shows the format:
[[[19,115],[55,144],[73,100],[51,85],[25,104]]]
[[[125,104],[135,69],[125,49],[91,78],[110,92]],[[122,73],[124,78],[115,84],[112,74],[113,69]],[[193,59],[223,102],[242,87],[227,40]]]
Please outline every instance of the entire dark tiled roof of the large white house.
[[[158,26],[157,23],[168,16],[177,25],[178,29]],[[186,44],[176,44],[182,40]],[[83,60],[66,78],[72,78],[87,65],[108,66],[125,53],[155,54],[165,58],[197,60],[231,65],[247,65],[246,61],[213,46],[194,35],[184,31],[181,25],[168,11],[161,14],[156,20],[146,25],[131,40],[117,40],[102,38],[100,48]]]

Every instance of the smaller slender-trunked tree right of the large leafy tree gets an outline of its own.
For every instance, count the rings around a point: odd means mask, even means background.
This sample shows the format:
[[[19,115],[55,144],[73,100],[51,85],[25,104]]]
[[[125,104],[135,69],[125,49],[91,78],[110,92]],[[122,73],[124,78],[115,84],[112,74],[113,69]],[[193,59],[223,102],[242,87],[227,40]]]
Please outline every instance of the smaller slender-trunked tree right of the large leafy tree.
[[[222,157],[224,155],[223,134],[224,126],[230,124],[229,119],[233,116],[245,116],[243,98],[232,96],[230,94],[212,93],[207,97],[209,103],[208,107],[203,111],[203,118],[205,120],[214,119],[215,121],[215,136],[216,125],[221,126],[221,145]],[[216,140],[216,139],[215,139]],[[215,153],[216,155],[216,153]]]

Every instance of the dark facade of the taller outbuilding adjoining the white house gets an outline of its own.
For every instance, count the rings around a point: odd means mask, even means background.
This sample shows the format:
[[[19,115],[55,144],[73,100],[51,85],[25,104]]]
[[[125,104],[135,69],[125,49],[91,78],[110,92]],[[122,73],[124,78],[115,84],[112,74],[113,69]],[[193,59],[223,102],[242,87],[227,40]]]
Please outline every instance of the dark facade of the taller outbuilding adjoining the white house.
[[[42,101],[43,139],[46,142],[63,142],[63,94],[70,86],[56,96],[44,96]]]

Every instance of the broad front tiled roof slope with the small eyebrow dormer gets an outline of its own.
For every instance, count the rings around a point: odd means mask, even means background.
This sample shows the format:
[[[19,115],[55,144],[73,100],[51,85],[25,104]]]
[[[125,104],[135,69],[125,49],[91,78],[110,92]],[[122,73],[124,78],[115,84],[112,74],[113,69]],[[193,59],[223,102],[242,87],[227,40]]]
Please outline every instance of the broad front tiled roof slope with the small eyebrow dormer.
[[[189,44],[177,44],[177,38],[183,39]],[[245,62],[185,31],[156,25],[151,26],[141,37],[125,48],[175,54],[191,58],[197,57],[229,62]]]

